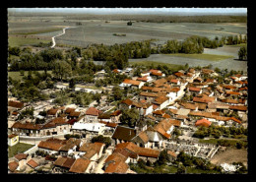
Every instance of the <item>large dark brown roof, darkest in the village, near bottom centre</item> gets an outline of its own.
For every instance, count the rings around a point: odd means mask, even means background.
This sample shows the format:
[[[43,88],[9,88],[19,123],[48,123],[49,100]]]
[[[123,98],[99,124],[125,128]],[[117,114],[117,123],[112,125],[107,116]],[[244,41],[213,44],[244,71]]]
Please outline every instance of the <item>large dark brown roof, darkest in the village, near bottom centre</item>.
[[[123,141],[130,141],[136,136],[136,130],[128,127],[117,126],[112,139],[119,139]]]

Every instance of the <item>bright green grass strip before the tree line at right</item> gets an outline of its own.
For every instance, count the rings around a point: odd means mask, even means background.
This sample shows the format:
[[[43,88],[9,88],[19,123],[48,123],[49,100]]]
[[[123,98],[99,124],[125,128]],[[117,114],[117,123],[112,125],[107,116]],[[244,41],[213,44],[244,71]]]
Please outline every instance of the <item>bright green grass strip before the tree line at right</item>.
[[[167,54],[170,56],[176,57],[185,57],[185,58],[192,58],[192,59],[203,59],[207,61],[221,61],[228,58],[233,58],[233,56],[226,56],[226,55],[217,55],[217,54]]]

